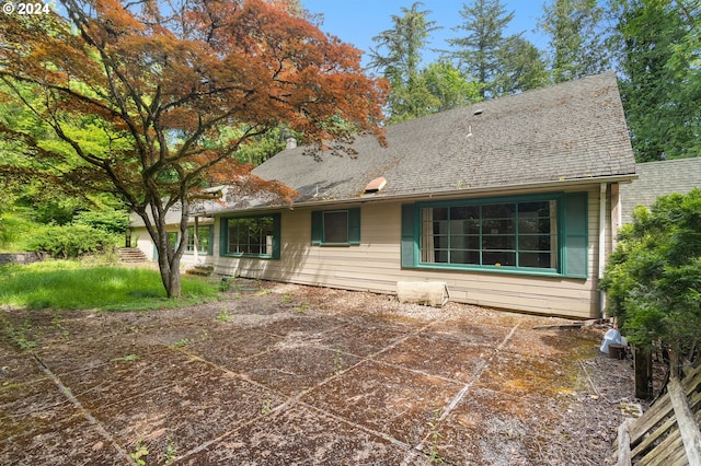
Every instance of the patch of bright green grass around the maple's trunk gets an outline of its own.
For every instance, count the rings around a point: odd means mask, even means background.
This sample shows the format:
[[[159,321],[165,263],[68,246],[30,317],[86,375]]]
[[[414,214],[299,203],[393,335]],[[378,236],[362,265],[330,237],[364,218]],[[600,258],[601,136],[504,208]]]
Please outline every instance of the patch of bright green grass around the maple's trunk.
[[[0,267],[0,302],[27,308],[148,311],[217,300],[218,287],[182,277],[182,298],[170,300],[158,271],[51,260]]]

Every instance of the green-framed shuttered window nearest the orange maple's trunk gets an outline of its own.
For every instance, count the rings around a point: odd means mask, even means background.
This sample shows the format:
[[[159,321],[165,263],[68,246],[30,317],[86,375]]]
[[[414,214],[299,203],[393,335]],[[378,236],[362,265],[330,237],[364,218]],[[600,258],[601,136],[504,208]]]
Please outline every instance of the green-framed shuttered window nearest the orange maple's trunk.
[[[279,258],[279,214],[228,218],[221,222],[222,255]]]

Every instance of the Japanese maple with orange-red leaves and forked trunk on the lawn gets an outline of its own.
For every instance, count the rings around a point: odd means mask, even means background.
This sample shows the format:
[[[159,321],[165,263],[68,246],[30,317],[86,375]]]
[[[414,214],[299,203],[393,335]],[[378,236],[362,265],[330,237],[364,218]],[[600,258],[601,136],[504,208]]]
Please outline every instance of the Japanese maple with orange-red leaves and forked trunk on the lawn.
[[[65,16],[0,16],[0,79],[70,151],[7,126],[2,133],[23,140],[25,156],[50,160],[53,179],[117,193],[154,240],[169,296],[181,292],[198,189],[225,182],[294,196],[235,160],[246,141],[281,124],[322,145],[354,132],[381,138],[383,84],[363,72],[359,50],[324,35],[295,1],[60,3]],[[77,123],[106,144],[76,135]],[[174,207],[175,247],[165,234]]]

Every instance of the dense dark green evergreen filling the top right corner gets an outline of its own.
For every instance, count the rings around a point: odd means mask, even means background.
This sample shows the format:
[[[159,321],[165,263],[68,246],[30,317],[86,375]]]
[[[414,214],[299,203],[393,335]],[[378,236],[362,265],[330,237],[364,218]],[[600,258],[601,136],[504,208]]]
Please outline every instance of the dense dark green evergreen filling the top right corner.
[[[617,0],[611,7],[636,160],[701,155],[701,2]]]

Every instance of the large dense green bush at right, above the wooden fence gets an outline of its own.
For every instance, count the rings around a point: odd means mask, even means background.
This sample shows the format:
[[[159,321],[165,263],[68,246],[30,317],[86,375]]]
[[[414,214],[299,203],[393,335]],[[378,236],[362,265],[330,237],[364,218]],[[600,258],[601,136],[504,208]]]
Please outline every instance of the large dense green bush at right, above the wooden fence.
[[[639,207],[600,286],[630,341],[692,350],[701,336],[701,190]]]

